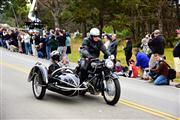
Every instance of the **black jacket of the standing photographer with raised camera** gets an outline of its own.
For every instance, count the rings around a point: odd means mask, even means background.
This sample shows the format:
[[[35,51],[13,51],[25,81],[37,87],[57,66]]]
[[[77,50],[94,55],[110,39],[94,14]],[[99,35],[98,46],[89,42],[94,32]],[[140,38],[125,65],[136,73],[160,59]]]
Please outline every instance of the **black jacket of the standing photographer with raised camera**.
[[[164,55],[165,39],[162,35],[159,35],[150,40],[148,46],[153,54]]]

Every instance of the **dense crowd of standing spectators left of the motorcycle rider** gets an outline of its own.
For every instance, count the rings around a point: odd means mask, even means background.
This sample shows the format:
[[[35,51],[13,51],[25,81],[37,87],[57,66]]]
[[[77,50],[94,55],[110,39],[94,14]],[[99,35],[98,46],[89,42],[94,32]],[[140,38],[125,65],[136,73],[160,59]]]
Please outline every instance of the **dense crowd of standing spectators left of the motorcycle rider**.
[[[58,50],[61,60],[68,63],[68,54],[71,53],[70,34],[65,30],[29,30],[0,28],[0,46],[10,51],[33,55],[38,58],[50,59],[50,53]]]

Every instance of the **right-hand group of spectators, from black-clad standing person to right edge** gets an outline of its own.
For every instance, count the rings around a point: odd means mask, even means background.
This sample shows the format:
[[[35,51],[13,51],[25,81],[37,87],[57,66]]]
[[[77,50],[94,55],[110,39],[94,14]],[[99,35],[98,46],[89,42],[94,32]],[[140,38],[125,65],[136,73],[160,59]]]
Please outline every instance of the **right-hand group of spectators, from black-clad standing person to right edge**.
[[[177,30],[177,39],[180,40],[180,30]],[[126,62],[128,66],[127,70],[124,70],[124,66],[118,62],[116,64],[116,72],[126,77],[141,77],[143,80],[153,81],[155,85],[169,85],[171,78],[169,78],[170,66],[166,62],[164,55],[165,38],[161,34],[160,30],[155,30],[152,34],[147,34],[141,41],[142,52],[138,48],[132,47],[132,41],[130,38],[126,38],[126,46],[124,47]],[[132,59],[132,55],[135,55],[136,60]],[[180,68],[180,42],[178,41],[173,49],[175,70],[177,76],[179,76]],[[136,62],[135,62],[136,61]],[[121,69],[120,69],[121,68]],[[139,74],[138,72],[141,71]],[[126,72],[126,73],[125,73]],[[174,79],[174,78],[173,78]]]

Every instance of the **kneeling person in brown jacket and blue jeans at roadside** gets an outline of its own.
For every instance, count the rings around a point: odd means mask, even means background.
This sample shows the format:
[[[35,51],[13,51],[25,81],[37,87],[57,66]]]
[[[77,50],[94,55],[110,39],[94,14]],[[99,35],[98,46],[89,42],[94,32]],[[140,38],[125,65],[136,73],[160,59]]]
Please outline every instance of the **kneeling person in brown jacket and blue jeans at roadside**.
[[[155,85],[169,85],[168,76],[168,65],[161,60],[161,55],[154,54],[156,65],[151,69],[151,76],[154,78]]]

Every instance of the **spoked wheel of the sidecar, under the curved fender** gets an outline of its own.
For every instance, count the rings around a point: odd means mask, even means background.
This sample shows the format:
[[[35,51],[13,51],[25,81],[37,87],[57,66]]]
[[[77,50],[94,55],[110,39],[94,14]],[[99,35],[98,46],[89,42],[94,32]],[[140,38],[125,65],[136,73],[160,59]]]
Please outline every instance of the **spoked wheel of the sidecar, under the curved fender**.
[[[32,80],[32,89],[35,98],[42,99],[44,97],[46,93],[46,87],[40,71],[35,74],[34,79]]]

